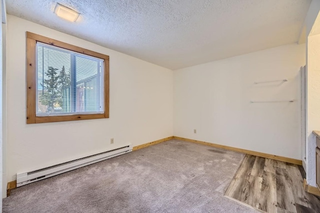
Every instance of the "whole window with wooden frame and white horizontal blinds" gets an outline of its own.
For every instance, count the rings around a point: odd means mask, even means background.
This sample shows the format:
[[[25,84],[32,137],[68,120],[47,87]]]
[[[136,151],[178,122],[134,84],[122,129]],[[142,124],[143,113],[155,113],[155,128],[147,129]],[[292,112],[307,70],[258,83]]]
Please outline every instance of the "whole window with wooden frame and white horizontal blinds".
[[[109,56],[26,32],[26,123],[108,118]]]

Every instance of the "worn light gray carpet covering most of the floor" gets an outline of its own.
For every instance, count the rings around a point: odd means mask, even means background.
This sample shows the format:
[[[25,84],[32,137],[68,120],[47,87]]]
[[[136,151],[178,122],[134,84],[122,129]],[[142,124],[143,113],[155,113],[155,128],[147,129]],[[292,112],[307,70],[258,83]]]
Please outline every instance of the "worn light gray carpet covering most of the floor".
[[[4,213],[253,213],[223,197],[244,154],[170,140],[11,191]]]

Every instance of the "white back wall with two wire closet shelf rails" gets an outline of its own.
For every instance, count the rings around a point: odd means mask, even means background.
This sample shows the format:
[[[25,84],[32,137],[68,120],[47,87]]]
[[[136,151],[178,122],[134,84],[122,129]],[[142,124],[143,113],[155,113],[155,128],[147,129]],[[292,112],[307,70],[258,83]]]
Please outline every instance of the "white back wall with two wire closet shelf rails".
[[[174,136],[301,160],[304,64],[305,45],[291,44],[174,71]]]

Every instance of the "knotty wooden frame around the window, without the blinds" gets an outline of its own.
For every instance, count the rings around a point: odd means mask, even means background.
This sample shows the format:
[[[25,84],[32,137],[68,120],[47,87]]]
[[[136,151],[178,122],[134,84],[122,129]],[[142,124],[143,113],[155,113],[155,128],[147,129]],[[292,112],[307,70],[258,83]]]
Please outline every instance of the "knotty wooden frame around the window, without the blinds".
[[[74,52],[97,57],[104,60],[104,113],[79,115],[36,116],[36,42],[61,47]],[[32,32],[26,32],[26,123],[48,123],[59,121],[75,121],[109,117],[109,56],[78,46],[67,44]]]

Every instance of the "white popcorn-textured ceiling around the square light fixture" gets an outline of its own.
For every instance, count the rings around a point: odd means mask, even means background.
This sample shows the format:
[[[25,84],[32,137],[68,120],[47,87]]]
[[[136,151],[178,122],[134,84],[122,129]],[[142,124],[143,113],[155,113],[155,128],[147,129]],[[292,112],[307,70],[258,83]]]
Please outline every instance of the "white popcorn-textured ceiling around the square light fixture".
[[[297,42],[311,0],[6,0],[7,13],[170,69]],[[67,22],[56,2],[80,13]]]

